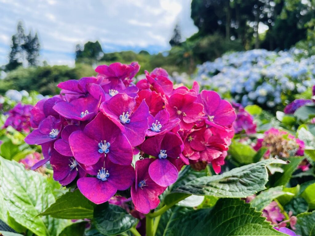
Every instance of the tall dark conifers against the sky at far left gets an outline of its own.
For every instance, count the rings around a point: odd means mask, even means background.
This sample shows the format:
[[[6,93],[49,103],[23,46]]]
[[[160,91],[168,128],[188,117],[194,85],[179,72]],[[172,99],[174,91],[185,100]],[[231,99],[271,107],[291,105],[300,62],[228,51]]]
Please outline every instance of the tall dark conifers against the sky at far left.
[[[38,65],[38,56],[40,43],[37,33],[33,36],[31,32],[26,36],[23,23],[20,21],[17,25],[17,33],[12,36],[11,50],[9,53],[9,63],[6,70],[14,70],[23,65]]]

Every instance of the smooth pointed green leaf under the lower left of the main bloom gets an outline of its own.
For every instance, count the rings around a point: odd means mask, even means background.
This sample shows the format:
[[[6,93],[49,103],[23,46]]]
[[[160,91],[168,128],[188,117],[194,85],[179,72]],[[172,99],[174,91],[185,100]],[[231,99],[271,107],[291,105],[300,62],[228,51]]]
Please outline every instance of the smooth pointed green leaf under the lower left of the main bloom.
[[[74,192],[67,192],[60,198],[57,198],[56,202],[40,213],[40,215],[50,215],[61,219],[92,218],[94,205],[77,189]]]

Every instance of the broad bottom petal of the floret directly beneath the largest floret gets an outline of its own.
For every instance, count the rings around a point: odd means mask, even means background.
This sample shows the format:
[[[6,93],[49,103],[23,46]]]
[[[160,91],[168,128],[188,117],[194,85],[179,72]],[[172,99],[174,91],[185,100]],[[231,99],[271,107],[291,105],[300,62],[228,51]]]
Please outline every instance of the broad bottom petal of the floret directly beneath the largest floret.
[[[108,181],[101,181],[94,177],[78,179],[77,186],[80,192],[95,204],[108,201],[117,192],[117,189]]]

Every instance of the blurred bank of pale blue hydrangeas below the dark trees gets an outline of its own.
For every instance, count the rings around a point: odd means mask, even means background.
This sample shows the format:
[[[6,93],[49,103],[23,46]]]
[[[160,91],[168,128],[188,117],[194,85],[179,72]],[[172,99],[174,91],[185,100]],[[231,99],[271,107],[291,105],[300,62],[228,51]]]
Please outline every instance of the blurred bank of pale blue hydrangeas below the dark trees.
[[[315,83],[314,77],[315,56],[297,59],[294,50],[276,53],[255,49],[226,53],[199,65],[195,80],[220,93],[231,92],[243,106],[258,104],[273,109],[306,91]]]

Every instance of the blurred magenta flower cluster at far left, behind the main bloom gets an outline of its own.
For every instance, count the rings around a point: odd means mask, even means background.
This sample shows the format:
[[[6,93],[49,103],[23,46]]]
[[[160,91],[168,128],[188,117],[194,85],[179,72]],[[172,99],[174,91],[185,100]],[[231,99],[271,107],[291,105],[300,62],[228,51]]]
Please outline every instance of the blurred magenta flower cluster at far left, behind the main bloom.
[[[6,119],[3,128],[12,126],[14,129],[20,132],[29,133],[31,131],[31,109],[30,104],[18,103],[7,112],[9,115]]]

